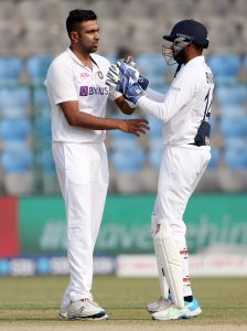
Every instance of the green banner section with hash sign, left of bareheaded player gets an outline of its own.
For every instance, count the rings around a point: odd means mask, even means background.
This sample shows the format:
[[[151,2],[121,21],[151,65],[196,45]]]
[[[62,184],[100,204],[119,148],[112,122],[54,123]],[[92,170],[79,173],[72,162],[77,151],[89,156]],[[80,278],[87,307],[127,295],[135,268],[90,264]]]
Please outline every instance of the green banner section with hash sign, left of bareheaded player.
[[[19,214],[22,254],[65,253],[66,222],[62,197],[21,197]]]

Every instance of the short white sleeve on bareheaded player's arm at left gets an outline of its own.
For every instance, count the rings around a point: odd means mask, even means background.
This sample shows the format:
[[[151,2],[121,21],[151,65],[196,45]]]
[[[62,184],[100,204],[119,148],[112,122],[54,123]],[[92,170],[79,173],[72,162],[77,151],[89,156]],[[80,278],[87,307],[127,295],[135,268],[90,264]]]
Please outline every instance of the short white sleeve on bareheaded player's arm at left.
[[[61,67],[60,63],[53,63],[47,72],[45,85],[50,88],[55,105],[78,100],[74,75],[69,64]]]

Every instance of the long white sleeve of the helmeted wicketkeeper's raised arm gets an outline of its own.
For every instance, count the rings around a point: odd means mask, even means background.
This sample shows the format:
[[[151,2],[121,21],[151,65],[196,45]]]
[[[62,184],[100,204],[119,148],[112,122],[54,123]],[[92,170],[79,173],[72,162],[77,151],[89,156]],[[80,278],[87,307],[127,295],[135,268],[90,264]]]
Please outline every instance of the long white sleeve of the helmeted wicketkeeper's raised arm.
[[[137,105],[147,114],[152,115],[162,122],[168,122],[191,100],[194,92],[193,77],[185,79],[184,75],[181,75],[172,84],[163,102],[153,102],[142,96]]]

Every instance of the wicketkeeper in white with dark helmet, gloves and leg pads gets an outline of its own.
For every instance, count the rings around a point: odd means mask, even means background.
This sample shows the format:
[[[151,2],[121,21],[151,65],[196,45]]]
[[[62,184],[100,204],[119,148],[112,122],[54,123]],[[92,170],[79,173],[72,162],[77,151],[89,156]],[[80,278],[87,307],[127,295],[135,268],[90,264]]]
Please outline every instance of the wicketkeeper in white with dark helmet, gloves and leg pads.
[[[176,320],[202,312],[190,282],[183,214],[211,159],[208,120],[214,82],[202,55],[203,49],[208,46],[203,24],[180,21],[164,39],[169,41],[169,45],[163,45],[165,58],[178,63],[167,95],[150,88],[144,90],[137,83],[139,72],[122,61],[111,65],[107,84],[164,124],[151,226],[161,298],[147,309],[153,319]]]

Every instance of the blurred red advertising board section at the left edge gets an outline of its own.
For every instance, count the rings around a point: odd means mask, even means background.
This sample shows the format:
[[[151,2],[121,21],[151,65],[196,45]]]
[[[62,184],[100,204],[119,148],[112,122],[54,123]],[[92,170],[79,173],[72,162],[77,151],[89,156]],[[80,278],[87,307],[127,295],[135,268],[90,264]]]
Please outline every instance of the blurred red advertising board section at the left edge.
[[[0,196],[0,257],[19,254],[18,200]]]

